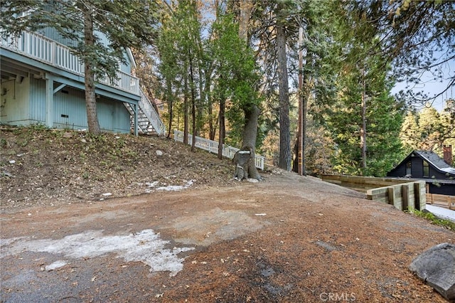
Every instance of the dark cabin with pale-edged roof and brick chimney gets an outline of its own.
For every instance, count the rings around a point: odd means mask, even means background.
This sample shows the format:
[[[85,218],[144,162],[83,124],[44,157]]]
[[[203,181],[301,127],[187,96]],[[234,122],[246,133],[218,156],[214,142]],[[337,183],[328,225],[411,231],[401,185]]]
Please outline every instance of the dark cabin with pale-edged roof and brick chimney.
[[[451,145],[444,146],[444,159],[432,151],[412,151],[387,176],[427,181],[427,193],[455,196],[455,169]]]

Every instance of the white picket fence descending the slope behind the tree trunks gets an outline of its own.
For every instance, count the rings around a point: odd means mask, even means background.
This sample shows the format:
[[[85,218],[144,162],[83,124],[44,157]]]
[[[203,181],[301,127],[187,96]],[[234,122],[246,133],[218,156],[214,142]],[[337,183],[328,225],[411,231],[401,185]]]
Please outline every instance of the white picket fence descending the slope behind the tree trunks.
[[[183,132],[181,132],[177,129],[174,129],[173,139],[177,142],[183,142]],[[193,142],[193,135],[188,134],[188,144],[191,145],[192,142]],[[218,142],[213,141],[213,140],[209,140],[209,139],[205,139],[205,138],[196,136],[195,147],[198,147],[199,149],[204,149],[213,154],[218,154]],[[223,144],[223,153],[222,153],[223,156],[228,157],[229,159],[232,159],[232,158],[234,158],[235,153],[237,151],[240,151],[240,149],[236,149],[235,147],[230,147],[229,145]],[[258,169],[264,169],[264,161],[265,161],[264,156],[255,155],[255,166]]]

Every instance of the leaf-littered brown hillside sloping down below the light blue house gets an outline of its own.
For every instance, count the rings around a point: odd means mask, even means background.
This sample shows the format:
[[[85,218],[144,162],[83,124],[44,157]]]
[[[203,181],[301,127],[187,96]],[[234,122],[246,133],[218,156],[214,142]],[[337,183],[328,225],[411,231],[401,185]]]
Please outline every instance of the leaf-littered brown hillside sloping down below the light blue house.
[[[159,137],[2,127],[1,208],[134,196],[166,186],[235,186],[229,159]],[[112,193],[112,195],[108,195]]]

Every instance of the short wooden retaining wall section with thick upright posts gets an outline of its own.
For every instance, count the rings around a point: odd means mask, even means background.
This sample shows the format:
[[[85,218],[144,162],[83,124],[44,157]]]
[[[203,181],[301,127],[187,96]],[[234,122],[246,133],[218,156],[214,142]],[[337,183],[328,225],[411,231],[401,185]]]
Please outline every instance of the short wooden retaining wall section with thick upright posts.
[[[405,184],[372,188],[367,191],[367,198],[373,201],[388,203],[405,211],[417,209],[422,211],[427,203],[425,181],[414,181]]]

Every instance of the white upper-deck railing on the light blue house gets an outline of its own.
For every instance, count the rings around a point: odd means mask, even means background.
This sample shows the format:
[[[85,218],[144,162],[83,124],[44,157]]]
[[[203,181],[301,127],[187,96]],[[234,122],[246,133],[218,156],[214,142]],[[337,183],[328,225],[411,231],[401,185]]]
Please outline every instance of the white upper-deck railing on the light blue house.
[[[84,63],[71,48],[38,33],[23,31],[21,36],[2,38],[1,47],[75,75],[83,76],[85,73]],[[100,83],[139,95],[139,79],[121,70],[117,70],[117,79],[105,78]]]

